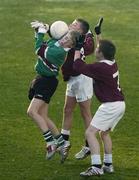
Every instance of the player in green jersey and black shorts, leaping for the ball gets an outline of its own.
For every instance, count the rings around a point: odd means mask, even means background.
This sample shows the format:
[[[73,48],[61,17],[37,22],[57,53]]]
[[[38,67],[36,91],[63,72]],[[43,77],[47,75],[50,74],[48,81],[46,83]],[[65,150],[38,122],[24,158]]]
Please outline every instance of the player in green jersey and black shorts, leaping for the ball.
[[[48,32],[49,26],[37,21],[32,22],[31,26],[35,29],[35,52],[38,60],[35,65],[37,76],[33,79],[29,89],[31,102],[27,114],[43,134],[47,144],[47,159],[50,159],[59,147],[62,162],[64,159],[64,140],[55,124],[48,117],[48,106],[58,86],[56,77],[59,68],[64,63],[68,50],[75,46],[76,37],[79,34],[75,31],[69,31],[60,40],[50,39],[45,42],[44,36]]]

